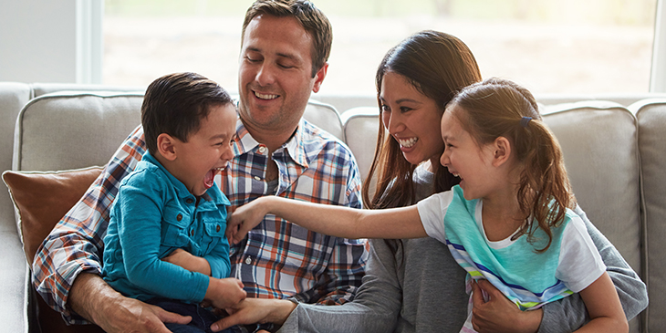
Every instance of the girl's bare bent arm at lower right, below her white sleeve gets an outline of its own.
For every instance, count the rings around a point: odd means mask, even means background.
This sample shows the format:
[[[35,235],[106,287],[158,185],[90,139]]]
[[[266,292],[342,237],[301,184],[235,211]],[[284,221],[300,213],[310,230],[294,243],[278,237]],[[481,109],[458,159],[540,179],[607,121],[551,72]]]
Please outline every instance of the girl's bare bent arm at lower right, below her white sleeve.
[[[608,273],[604,272],[597,281],[581,290],[580,297],[588,308],[591,320],[576,332],[629,331],[629,323]]]

